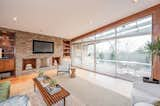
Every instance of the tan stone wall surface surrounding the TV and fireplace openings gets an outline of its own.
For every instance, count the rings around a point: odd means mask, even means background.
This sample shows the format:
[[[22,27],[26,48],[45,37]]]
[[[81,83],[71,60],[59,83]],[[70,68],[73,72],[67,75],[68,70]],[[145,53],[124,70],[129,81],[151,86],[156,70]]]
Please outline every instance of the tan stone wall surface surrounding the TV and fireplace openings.
[[[16,32],[16,47],[15,47],[15,57],[16,57],[16,74],[20,75],[25,71],[22,71],[23,59],[36,58],[37,69],[40,68],[40,59],[48,58],[50,66],[52,66],[53,56],[63,56],[63,39],[58,37],[51,37],[41,34],[15,31],[5,28],[0,28],[0,30],[14,31]],[[50,41],[54,42],[54,53],[46,54],[33,54],[32,53],[32,42],[33,40]]]

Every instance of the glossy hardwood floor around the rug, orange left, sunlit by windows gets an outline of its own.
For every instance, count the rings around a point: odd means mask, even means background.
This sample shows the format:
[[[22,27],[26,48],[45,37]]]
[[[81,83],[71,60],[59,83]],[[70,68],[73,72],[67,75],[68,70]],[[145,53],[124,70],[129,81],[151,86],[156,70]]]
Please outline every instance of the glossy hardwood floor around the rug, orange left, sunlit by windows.
[[[56,76],[56,70],[45,71],[45,74],[48,76]],[[21,75],[18,77],[11,77],[8,79],[0,80],[0,82],[9,80],[11,81],[11,84],[14,85],[14,84],[30,81],[31,84],[33,84],[32,79],[36,77],[37,75],[38,73],[34,72],[28,75]],[[132,82],[88,72],[82,69],[76,69],[76,76],[79,76],[83,79],[86,79],[104,88],[111,89],[112,91],[115,91],[128,98],[131,97],[131,89],[132,89],[132,84],[133,84]]]

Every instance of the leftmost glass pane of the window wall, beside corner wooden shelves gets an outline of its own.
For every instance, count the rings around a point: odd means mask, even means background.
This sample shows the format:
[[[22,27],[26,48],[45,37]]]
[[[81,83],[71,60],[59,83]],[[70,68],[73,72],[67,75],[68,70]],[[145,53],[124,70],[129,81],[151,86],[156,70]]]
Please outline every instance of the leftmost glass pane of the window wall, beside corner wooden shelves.
[[[81,45],[75,44],[72,45],[72,64],[74,66],[80,66],[81,65]]]

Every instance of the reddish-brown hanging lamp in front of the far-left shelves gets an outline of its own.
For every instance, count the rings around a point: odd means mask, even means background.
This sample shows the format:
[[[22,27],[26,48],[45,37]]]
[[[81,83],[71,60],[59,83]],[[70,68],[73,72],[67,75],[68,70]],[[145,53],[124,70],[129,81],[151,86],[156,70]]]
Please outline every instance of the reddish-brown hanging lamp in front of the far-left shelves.
[[[0,47],[10,47],[10,45],[7,32],[2,32],[2,36],[0,37]]]

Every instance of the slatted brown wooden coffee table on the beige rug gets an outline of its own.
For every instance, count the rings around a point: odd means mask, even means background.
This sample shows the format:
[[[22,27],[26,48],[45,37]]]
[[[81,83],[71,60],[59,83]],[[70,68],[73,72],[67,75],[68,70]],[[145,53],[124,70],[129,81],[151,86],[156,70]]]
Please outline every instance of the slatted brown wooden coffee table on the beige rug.
[[[47,90],[41,85],[41,83],[36,78],[33,79],[33,82],[34,82],[34,91],[36,90],[36,87],[39,89],[47,106],[56,104],[61,100],[64,101],[64,106],[65,106],[65,98],[69,96],[70,93],[66,91],[63,87],[59,85],[62,88],[61,91],[51,95],[47,92]]]

